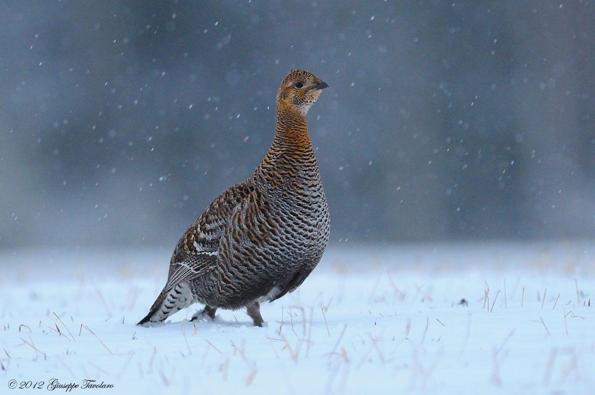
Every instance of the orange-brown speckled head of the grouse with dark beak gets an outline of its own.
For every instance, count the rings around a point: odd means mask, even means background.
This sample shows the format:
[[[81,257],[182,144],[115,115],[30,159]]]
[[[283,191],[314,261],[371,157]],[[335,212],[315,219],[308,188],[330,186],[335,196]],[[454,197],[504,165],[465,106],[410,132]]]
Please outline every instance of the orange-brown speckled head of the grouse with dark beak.
[[[321,90],[326,87],[327,83],[309,71],[292,70],[283,79],[277,93],[277,108],[294,110],[306,115],[320,96]]]

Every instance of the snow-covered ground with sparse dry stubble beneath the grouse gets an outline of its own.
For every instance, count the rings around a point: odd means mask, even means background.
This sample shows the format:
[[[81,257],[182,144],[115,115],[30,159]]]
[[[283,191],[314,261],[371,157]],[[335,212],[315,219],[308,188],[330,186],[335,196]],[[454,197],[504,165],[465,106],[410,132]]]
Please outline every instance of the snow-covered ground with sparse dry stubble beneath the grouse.
[[[595,393],[593,243],[335,246],[264,328],[137,327],[169,253],[2,253],[0,392]]]

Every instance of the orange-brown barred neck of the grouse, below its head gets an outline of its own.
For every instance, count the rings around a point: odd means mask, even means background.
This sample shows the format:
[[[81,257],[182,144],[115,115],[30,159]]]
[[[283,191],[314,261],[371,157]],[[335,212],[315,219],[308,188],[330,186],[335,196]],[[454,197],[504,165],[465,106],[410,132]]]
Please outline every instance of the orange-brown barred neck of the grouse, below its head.
[[[277,109],[273,144],[256,174],[279,181],[280,174],[284,177],[296,176],[304,170],[302,167],[312,167],[312,170],[317,168],[306,115],[290,109]]]

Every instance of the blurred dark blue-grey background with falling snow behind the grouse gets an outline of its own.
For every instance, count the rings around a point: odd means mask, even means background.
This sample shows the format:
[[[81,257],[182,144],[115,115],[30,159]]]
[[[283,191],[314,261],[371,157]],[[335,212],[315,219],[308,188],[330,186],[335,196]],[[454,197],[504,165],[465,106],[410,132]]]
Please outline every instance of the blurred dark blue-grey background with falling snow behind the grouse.
[[[594,4],[3,1],[0,247],[173,248],[293,68],[331,242],[593,238]]]

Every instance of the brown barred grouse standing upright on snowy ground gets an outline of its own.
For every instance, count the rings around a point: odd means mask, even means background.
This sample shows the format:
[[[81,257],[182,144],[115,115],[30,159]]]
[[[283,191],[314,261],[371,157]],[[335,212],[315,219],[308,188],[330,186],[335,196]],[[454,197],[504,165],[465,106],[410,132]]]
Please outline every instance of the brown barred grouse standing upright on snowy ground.
[[[327,87],[305,70],[283,79],[270,149],[247,180],[216,197],[186,230],[163,290],[138,325],[202,303],[191,321],[246,308],[262,327],[261,303],[294,291],[318,265],[330,216],[306,114]]]

